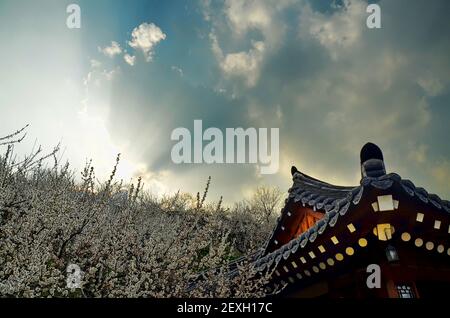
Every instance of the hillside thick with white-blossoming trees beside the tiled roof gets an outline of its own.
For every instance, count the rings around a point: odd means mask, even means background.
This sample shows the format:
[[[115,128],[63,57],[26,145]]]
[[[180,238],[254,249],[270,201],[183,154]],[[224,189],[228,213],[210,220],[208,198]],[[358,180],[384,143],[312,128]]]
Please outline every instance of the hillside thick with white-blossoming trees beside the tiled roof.
[[[243,258],[230,278],[227,264],[263,246],[277,189],[229,208],[207,202],[210,179],[197,195],[154,197],[141,180],[115,179],[120,156],[109,180],[98,182],[87,163],[77,182],[57,148],[17,159],[23,131],[0,139],[1,297],[264,296],[270,273],[255,278]],[[206,279],[192,288],[199,273]]]

